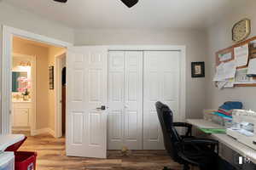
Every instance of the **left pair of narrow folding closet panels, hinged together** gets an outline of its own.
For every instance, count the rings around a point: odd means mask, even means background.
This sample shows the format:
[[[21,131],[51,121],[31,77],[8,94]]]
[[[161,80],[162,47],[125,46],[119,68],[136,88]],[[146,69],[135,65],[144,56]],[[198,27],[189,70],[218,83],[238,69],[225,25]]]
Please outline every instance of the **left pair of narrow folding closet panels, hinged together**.
[[[109,53],[108,149],[143,149],[143,52]]]

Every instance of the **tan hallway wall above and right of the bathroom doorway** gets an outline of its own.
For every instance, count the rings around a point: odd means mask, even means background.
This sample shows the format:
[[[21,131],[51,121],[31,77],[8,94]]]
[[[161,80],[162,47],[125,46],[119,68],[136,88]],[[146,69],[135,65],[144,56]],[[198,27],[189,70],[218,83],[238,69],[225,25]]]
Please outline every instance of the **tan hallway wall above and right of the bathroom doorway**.
[[[48,105],[48,54],[49,49],[21,41],[13,42],[15,54],[36,56],[37,59],[37,123],[36,128],[49,127]]]

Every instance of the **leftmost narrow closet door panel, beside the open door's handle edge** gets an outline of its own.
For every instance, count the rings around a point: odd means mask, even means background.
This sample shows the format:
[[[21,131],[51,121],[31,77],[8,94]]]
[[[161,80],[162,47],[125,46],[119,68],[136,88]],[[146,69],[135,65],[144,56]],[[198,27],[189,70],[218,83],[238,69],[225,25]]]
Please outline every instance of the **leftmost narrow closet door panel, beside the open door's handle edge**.
[[[124,143],[125,53],[108,57],[108,150],[120,150]]]

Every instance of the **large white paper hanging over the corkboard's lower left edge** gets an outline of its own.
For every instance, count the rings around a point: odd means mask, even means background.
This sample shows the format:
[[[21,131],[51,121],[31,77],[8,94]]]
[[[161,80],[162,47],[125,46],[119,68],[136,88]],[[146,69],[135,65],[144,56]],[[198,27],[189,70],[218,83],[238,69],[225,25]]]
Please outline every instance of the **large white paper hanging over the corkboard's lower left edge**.
[[[214,82],[218,81],[227,81],[230,78],[234,78],[236,76],[236,61],[231,60],[226,63],[221,63],[216,68],[216,74],[213,78]]]

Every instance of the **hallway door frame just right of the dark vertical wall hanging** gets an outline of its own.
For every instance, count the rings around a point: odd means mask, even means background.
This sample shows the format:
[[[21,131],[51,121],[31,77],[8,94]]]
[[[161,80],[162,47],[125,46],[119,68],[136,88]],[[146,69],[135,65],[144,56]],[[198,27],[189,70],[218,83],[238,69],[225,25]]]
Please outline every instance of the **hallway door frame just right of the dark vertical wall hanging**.
[[[62,137],[62,112],[61,112],[61,60],[64,58],[67,51],[55,55],[55,138]],[[66,55],[67,58],[67,55]]]

